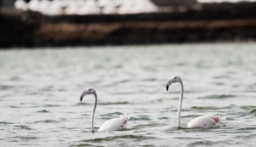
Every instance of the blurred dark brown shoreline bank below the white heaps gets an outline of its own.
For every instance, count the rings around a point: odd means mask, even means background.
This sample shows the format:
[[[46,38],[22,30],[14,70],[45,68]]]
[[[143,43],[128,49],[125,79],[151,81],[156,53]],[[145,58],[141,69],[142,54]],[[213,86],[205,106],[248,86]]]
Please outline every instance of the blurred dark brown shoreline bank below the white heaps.
[[[0,48],[256,40],[256,3],[126,15],[45,16],[2,8]],[[166,10],[166,11],[165,11]]]

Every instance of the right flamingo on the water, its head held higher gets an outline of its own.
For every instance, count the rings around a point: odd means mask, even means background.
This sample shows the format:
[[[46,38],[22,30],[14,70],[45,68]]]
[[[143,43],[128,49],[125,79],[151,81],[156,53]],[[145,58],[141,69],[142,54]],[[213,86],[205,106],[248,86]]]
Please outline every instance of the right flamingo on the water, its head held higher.
[[[166,83],[166,90],[168,91],[169,86],[172,83],[176,83],[176,82],[179,82],[181,85],[177,123],[178,123],[179,127],[182,127],[181,123],[180,123],[180,111],[181,111],[181,105],[182,105],[182,99],[183,99],[183,83],[182,83],[181,78],[179,76],[172,77]],[[204,115],[204,116],[194,118],[187,124],[187,126],[189,128],[213,128],[213,127],[218,127],[221,124],[221,122],[224,120],[226,120],[226,117],[219,117],[219,116],[214,116],[214,115]]]

